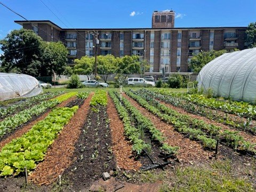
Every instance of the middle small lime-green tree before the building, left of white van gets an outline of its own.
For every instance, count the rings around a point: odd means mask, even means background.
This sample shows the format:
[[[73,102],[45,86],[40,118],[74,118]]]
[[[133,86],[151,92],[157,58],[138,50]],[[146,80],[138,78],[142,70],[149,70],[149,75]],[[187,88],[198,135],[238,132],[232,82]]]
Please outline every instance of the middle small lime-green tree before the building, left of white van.
[[[117,70],[118,60],[113,55],[99,55],[97,63],[97,72],[101,78],[107,82],[108,75],[114,74]]]

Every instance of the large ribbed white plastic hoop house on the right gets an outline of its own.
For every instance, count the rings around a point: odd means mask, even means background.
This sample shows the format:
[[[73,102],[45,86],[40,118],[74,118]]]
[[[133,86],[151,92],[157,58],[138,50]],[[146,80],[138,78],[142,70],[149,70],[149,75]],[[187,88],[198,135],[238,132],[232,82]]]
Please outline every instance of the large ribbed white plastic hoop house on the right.
[[[207,63],[197,76],[198,89],[214,95],[255,102],[256,48],[225,53]]]

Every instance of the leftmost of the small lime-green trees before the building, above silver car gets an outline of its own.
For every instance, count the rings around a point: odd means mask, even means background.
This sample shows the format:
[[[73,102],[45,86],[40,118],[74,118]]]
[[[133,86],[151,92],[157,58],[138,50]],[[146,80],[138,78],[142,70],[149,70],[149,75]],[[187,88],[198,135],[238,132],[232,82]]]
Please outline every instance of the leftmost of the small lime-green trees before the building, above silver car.
[[[94,69],[94,58],[84,56],[81,59],[75,59],[74,62],[74,74],[87,75],[87,77],[89,78]]]

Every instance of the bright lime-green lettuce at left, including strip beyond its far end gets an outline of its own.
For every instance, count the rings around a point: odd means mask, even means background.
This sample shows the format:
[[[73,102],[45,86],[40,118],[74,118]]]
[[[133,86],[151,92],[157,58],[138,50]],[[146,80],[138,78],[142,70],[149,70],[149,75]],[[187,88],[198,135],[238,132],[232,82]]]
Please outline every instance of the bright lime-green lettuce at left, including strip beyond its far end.
[[[77,95],[79,99],[86,99],[89,93],[70,92],[62,94],[47,102],[52,103],[51,107]],[[42,120],[36,123],[31,129],[18,139],[7,143],[0,152],[0,175],[18,175],[34,170],[36,165],[43,161],[47,148],[52,144],[58,133],[69,122],[76,113],[78,106],[71,108],[59,107],[52,111]]]

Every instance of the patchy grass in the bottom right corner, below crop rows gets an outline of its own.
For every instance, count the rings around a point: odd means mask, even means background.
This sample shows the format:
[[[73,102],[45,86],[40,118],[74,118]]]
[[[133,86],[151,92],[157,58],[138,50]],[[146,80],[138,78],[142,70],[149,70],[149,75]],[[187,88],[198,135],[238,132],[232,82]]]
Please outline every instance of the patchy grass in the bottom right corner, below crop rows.
[[[174,178],[164,179],[161,191],[255,191],[246,179],[232,175],[230,161],[211,164],[211,168],[177,169]],[[235,173],[235,170],[234,170]]]

